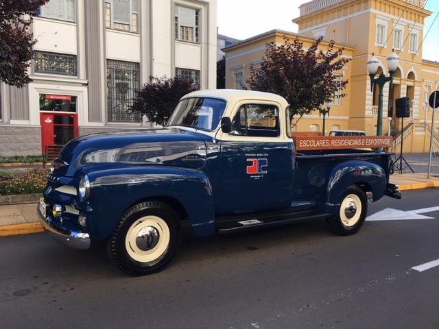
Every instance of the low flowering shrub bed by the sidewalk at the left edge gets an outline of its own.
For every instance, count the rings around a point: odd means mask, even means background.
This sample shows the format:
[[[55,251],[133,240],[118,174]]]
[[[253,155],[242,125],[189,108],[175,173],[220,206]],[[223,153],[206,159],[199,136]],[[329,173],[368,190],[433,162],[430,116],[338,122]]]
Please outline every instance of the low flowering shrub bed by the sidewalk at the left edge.
[[[21,176],[0,178],[0,195],[43,193],[48,169],[27,169]]]

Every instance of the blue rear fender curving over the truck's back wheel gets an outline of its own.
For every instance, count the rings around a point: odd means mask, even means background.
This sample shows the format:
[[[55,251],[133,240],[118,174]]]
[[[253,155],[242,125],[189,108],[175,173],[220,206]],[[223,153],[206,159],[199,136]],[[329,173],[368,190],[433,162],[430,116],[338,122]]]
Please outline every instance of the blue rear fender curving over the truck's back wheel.
[[[327,182],[324,211],[335,215],[349,186],[367,186],[366,190],[372,192],[372,202],[375,202],[384,195],[387,177],[377,164],[352,160],[337,164],[329,173]]]

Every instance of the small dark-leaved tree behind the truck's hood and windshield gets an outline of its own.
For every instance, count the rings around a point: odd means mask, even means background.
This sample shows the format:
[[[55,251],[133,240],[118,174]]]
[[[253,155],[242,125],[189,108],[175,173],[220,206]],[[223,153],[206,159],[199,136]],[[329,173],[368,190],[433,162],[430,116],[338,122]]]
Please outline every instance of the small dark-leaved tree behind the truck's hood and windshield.
[[[164,126],[181,97],[200,86],[182,77],[150,77],[150,82],[136,93],[130,111],[146,115],[156,125]]]

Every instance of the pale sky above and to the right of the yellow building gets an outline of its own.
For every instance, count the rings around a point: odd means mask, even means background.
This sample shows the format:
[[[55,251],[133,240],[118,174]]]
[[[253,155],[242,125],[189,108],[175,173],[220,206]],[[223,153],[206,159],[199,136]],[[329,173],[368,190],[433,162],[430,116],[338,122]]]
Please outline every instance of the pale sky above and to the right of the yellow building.
[[[299,6],[309,1],[217,0],[218,33],[244,40],[272,29],[298,32],[292,19],[299,16]],[[425,9],[433,14],[425,22],[423,59],[439,62],[439,0],[427,0]]]

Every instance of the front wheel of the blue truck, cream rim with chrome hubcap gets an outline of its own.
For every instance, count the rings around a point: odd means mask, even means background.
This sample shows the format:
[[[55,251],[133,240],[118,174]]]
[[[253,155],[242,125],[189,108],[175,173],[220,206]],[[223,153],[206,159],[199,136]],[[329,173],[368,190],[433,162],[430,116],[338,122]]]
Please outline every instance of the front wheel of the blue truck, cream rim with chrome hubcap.
[[[143,202],[128,210],[107,241],[108,254],[131,276],[164,269],[182,239],[176,212],[163,202]]]

